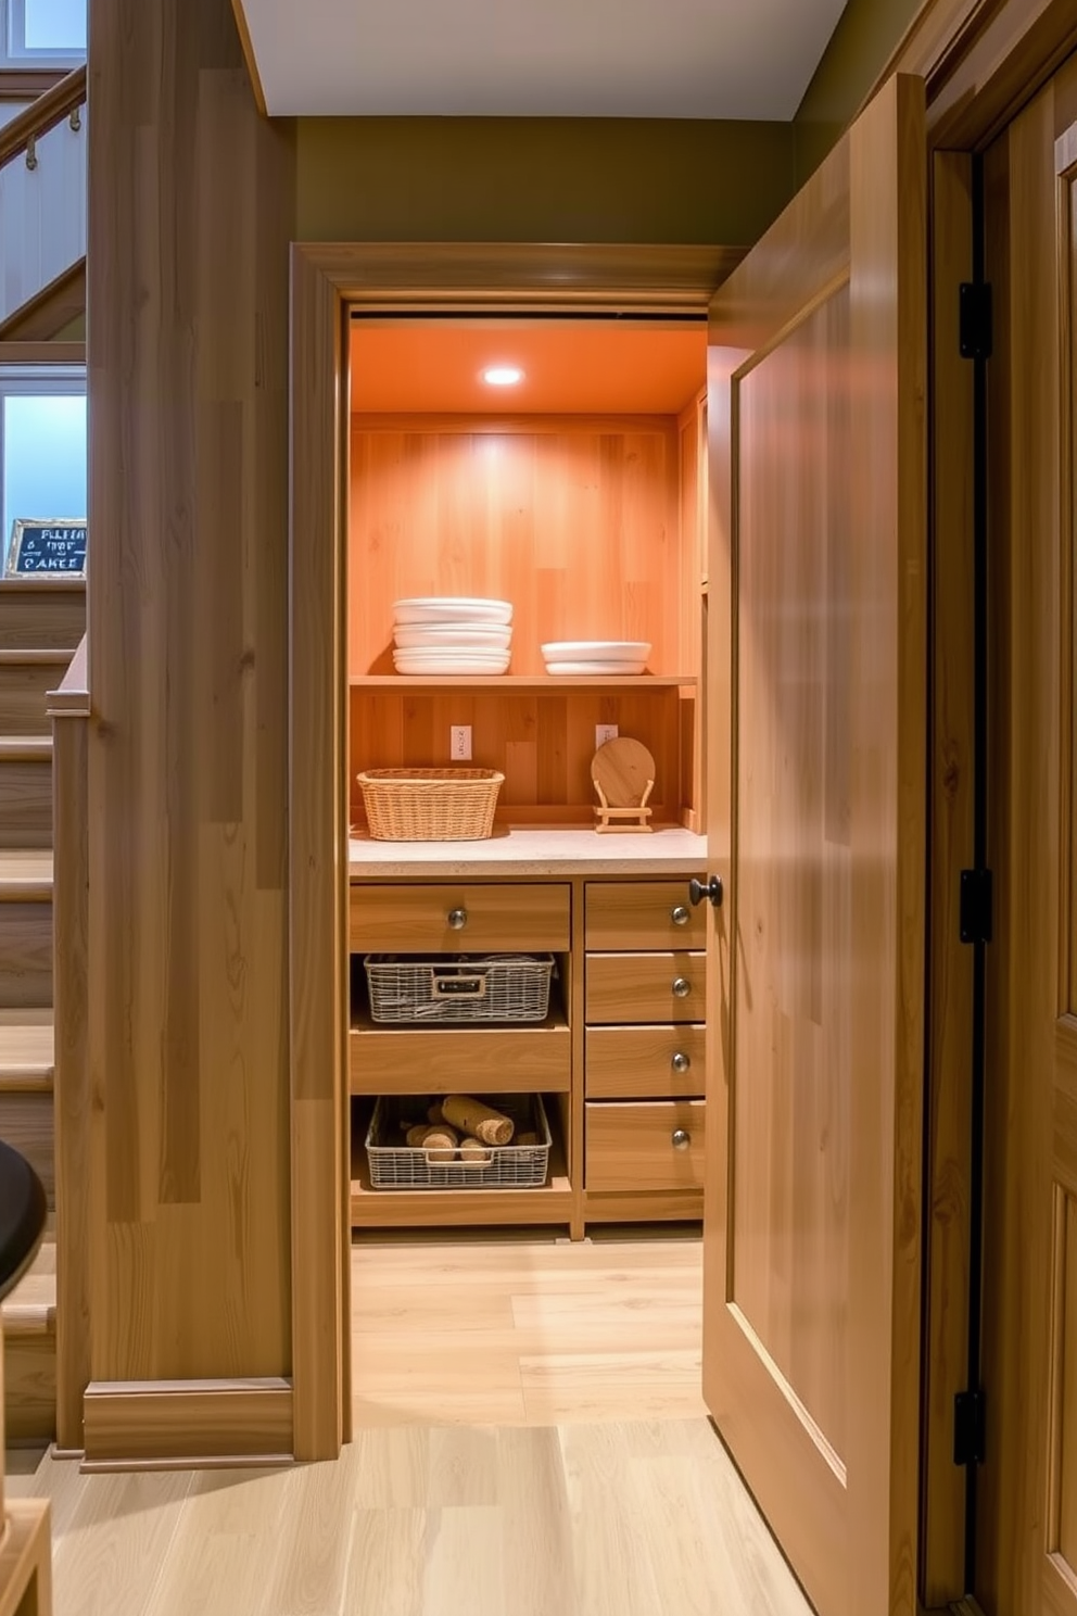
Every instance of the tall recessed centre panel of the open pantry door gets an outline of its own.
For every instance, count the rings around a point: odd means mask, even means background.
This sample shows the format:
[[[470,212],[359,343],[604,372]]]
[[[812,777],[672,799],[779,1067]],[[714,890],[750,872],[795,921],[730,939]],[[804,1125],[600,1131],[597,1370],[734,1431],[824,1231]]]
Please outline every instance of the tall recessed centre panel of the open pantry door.
[[[853,965],[848,354],[844,283],[740,383],[735,1063],[751,1081],[735,1107],[731,1286],[840,1458]],[[812,430],[790,441],[790,420]]]

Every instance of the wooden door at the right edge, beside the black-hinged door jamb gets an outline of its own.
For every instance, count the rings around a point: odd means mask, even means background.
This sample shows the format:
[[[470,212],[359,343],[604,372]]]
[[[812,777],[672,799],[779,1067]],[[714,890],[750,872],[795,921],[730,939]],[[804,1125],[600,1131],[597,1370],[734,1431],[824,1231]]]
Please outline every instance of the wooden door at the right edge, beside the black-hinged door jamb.
[[[1077,61],[983,158],[988,406],[987,1616],[1077,1613]]]

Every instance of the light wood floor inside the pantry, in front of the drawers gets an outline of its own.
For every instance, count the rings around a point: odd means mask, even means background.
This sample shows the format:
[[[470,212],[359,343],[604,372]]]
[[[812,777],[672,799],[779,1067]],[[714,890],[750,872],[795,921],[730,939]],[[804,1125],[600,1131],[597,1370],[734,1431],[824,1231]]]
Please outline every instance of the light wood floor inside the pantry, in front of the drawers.
[[[706,1414],[702,1244],[459,1231],[352,1246],[360,1425]]]

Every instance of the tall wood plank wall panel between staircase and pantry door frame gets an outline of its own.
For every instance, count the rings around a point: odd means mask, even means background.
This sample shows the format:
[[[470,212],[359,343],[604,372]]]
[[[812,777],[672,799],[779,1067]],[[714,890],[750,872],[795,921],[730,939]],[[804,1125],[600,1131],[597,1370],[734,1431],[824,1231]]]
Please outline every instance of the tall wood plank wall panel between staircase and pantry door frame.
[[[97,0],[89,82],[92,1374],[281,1377],[294,131],[228,0]]]

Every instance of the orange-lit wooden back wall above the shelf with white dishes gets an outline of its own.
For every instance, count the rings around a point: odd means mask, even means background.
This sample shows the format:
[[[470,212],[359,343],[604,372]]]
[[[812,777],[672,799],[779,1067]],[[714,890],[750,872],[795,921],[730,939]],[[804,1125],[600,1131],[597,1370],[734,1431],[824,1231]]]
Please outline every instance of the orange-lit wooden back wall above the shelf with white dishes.
[[[652,672],[693,672],[678,461],[675,417],[354,417],[350,672],[392,672],[407,595],[510,600],[513,674],[547,640],[651,640]]]

